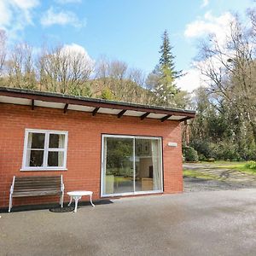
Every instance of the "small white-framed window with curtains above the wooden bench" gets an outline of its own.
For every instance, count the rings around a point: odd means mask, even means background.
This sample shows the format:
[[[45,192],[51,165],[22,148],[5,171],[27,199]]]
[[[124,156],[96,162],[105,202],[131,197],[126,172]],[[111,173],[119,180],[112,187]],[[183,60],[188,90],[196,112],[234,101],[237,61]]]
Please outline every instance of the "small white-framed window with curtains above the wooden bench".
[[[64,170],[67,162],[67,131],[25,131],[21,171]]]

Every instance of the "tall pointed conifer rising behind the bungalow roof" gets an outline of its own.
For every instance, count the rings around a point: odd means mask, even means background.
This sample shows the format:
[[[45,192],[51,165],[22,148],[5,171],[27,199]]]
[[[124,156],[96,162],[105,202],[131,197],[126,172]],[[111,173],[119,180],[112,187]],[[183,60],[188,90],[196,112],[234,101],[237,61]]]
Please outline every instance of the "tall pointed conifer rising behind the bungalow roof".
[[[178,92],[175,79],[181,76],[181,71],[175,70],[174,59],[168,32],[165,31],[160,46],[159,64],[148,74],[147,79],[148,87],[154,92],[156,105],[175,106],[174,96]]]

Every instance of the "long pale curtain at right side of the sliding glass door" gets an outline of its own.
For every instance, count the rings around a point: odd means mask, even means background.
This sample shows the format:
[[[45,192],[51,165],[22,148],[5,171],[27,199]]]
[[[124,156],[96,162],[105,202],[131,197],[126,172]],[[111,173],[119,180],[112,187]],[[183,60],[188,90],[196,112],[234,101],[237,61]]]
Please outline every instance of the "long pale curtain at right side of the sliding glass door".
[[[158,140],[151,140],[152,163],[153,163],[153,184],[154,190],[161,189],[160,175],[160,143]]]

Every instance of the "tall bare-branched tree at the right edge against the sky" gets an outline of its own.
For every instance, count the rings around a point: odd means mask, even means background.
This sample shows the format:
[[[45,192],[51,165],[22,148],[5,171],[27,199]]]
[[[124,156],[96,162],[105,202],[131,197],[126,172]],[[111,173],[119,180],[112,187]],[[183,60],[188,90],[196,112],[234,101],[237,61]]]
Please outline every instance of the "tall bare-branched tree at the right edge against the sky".
[[[230,109],[236,110],[236,120],[240,120],[253,131],[256,143],[256,61],[252,27],[241,25],[238,17],[230,22],[227,42],[219,44],[212,35],[210,44],[202,44],[199,68],[209,82],[210,92],[218,103],[224,101]]]

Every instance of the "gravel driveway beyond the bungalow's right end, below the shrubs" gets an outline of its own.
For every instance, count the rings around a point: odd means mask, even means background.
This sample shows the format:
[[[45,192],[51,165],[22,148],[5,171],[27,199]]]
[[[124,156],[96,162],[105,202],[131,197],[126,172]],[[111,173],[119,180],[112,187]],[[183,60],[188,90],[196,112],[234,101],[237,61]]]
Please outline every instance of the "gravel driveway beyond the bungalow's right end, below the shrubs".
[[[214,164],[185,163],[183,169],[195,170],[221,178],[221,180],[183,177],[185,192],[230,189],[255,189],[256,176],[233,169],[219,168]]]

